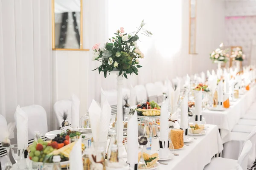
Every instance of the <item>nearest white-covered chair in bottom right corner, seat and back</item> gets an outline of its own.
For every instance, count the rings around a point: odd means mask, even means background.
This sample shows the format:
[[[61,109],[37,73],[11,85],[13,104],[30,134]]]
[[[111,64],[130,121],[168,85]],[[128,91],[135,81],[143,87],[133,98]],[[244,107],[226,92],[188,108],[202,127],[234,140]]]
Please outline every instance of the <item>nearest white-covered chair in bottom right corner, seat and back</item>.
[[[204,170],[247,170],[248,154],[252,148],[252,142],[245,142],[238,160],[227,158],[212,158]]]

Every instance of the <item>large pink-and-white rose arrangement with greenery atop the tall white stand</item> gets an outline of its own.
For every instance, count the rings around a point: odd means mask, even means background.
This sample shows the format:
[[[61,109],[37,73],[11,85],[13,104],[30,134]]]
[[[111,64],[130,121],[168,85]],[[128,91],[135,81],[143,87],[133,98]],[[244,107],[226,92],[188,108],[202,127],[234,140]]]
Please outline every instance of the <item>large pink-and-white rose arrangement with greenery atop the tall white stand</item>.
[[[137,40],[139,40],[138,34],[140,31],[143,31],[143,35],[148,37],[152,35],[143,26],[145,26],[144,20],[133,34],[125,33],[124,28],[121,27],[120,30],[114,33],[114,37],[109,38],[109,42],[106,42],[103,48],[100,48],[99,44],[94,45],[92,48],[93,60],[102,63],[94,70],[98,69],[99,74],[104,72],[105,78],[108,72],[115,70],[119,71],[119,76],[123,73],[126,79],[127,74],[134,73],[138,75],[137,68],[142,67],[139,65],[139,59],[144,58],[144,54],[137,45]]]

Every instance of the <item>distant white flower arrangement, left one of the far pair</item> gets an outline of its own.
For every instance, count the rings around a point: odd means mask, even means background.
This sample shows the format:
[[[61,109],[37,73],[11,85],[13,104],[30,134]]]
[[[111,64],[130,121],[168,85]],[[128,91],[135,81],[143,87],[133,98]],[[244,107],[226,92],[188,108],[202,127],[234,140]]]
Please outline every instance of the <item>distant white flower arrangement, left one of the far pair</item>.
[[[210,54],[212,62],[227,62],[227,57],[229,57],[229,55],[227,54],[227,49],[223,49],[223,43],[220,44],[220,48],[215,49]]]

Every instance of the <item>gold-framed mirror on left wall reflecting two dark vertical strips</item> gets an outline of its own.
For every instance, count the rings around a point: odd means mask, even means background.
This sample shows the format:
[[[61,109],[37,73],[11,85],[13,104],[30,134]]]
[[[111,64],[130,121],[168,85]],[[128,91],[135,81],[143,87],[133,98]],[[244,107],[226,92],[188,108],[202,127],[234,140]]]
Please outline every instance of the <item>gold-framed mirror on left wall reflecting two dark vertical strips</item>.
[[[83,49],[83,0],[52,0],[52,50]]]

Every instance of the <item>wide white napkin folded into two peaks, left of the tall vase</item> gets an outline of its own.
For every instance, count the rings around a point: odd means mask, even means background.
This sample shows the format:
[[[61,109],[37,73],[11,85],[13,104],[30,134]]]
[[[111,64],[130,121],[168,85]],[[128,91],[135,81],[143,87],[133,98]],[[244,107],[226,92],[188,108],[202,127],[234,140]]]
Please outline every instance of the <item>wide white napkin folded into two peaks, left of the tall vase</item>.
[[[93,133],[93,141],[106,142],[108,139],[108,128],[111,119],[111,107],[105,101],[101,109],[95,100],[89,108],[90,125]]]

